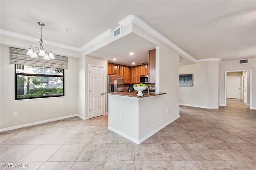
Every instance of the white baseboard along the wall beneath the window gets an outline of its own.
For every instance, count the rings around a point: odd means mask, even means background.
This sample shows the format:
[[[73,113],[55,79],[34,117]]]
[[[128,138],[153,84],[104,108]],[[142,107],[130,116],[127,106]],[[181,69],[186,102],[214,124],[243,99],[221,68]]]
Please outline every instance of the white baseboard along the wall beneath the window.
[[[47,122],[50,122],[50,121],[56,121],[56,120],[61,120],[61,119],[66,119],[66,118],[76,117],[76,116],[80,117],[78,114],[62,116],[62,117],[57,117],[57,118],[54,118],[54,119],[36,121],[36,122],[33,122],[33,123],[27,123],[27,124],[23,124],[23,125],[17,125],[17,126],[2,128],[2,129],[0,129],[0,132],[10,131],[10,130],[13,130],[13,129],[19,129],[19,128],[22,128],[22,127],[28,127],[28,126],[32,126],[32,125],[39,125],[39,124],[47,123]]]

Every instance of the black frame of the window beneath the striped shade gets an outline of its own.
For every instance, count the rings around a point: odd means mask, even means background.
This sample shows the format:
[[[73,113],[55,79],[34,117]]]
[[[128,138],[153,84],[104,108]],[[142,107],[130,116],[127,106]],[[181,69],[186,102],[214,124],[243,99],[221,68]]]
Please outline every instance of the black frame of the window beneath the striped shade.
[[[17,73],[16,72],[16,64],[14,64],[14,84],[15,84],[15,89],[14,89],[14,100],[26,100],[26,99],[37,99],[37,98],[55,98],[55,97],[64,97],[65,96],[65,69],[63,68],[63,74],[62,75],[52,75],[52,74],[28,74],[28,73]],[[62,78],[62,86],[63,86],[63,94],[62,95],[52,95],[52,96],[36,96],[36,97],[24,97],[24,98],[17,98],[17,76],[42,76],[42,77],[60,77]]]

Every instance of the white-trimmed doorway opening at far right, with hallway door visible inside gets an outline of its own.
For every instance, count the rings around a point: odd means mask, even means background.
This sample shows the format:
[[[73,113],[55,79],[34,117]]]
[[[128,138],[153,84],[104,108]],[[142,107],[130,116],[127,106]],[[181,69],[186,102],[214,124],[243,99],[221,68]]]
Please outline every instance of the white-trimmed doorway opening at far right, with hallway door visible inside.
[[[225,106],[227,99],[240,100],[252,107],[252,70],[225,71]]]

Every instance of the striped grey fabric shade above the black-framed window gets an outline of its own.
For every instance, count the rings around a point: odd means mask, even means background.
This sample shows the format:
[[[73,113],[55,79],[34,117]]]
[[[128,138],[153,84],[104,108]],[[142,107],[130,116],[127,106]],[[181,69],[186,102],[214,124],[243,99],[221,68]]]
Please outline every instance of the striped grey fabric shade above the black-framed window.
[[[38,59],[32,59],[26,55],[28,52],[24,49],[17,49],[10,47],[11,50],[11,64],[23,64],[29,66],[41,66],[48,68],[63,68],[68,69],[68,57],[54,55],[55,59],[44,60],[43,57],[38,56]]]

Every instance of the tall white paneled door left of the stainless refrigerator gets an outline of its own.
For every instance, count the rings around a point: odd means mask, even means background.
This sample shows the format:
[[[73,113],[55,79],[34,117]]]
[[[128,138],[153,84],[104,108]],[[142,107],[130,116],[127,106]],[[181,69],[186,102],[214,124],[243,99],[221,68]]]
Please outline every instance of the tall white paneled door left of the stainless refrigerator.
[[[104,68],[90,66],[90,118],[104,115]]]

